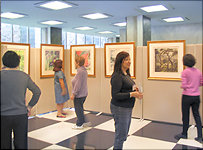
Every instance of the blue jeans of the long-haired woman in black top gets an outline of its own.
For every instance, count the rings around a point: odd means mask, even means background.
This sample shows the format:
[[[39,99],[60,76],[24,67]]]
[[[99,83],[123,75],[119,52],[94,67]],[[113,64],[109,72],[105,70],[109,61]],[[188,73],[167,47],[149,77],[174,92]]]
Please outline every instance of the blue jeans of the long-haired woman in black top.
[[[132,108],[124,108],[111,104],[111,113],[114,118],[116,132],[114,149],[122,149],[130,128]]]

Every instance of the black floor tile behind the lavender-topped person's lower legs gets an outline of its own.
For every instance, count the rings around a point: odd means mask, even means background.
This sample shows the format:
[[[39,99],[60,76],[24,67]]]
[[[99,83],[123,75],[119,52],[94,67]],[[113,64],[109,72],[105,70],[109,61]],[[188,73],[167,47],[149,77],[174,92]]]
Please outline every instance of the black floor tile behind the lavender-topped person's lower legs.
[[[90,121],[92,123],[92,127],[95,127],[103,122],[106,122],[106,121],[112,119],[111,116],[106,116],[106,115],[96,116],[96,114],[92,114],[92,113],[86,114],[85,118],[86,118],[86,121]],[[65,122],[76,123],[76,120],[77,120],[77,118],[73,118],[73,119],[67,120]]]

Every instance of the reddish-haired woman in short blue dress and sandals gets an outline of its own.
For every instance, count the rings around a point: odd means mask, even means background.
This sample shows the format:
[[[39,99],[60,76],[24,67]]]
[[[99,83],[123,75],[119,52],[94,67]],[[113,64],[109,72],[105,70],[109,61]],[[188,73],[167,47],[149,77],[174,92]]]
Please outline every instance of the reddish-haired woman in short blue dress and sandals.
[[[65,118],[66,113],[63,111],[64,103],[69,99],[68,86],[66,77],[62,71],[62,60],[58,59],[54,62],[54,87],[55,87],[55,100],[57,107],[57,117]]]

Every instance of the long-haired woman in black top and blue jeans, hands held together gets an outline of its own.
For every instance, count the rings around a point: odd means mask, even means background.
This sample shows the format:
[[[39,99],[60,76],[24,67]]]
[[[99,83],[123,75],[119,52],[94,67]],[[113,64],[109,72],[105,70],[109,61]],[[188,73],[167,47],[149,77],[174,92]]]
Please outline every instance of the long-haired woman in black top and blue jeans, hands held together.
[[[135,98],[142,99],[142,93],[136,91],[135,82],[130,77],[130,56],[120,52],[116,56],[114,72],[111,77],[111,113],[115,122],[114,149],[122,149],[131,123]]]

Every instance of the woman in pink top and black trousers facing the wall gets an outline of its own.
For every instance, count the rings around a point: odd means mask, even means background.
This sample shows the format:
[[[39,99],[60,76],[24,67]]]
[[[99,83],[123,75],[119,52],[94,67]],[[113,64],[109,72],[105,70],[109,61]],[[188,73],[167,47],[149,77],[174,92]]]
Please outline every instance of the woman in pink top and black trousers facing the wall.
[[[197,137],[196,141],[202,143],[202,123],[199,115],[200,105],[200,91],[199,87],[203,85],[202,73],[194,68],[196,61],[193,55],[186,54],[183,57],[183,65],[186,69],[183,70],[181,75],[181,88],[182,92],[182,121],[183,131],[181,134],[175,136],[177,140],[180,138],[187,138],[187,131],[189,127],[190,107],[192,107],[192,113],[197,125]]]

